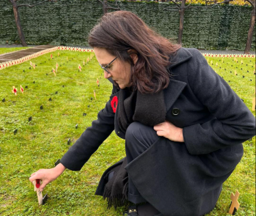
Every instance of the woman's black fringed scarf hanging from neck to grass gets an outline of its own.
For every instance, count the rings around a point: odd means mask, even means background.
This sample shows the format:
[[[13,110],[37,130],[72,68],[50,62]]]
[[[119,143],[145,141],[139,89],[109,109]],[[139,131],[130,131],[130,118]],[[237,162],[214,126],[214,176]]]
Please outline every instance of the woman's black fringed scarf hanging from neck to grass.
[[[129,124],[140,122],[147,126],[155,126],[164,122],[166,118],[166,107],[164,104],[164,93],[141,94],[131,92],[129,88],[120,90],[118,98],[118,126],[125,133]],[[107,198],[107,207],[114,208],[127,204],[128,197],[128,174],[125,170],[127,159],[123,163],[113,165],[103,174],[108,177],[114,171],[114,176],[105,185],[103,198]]]

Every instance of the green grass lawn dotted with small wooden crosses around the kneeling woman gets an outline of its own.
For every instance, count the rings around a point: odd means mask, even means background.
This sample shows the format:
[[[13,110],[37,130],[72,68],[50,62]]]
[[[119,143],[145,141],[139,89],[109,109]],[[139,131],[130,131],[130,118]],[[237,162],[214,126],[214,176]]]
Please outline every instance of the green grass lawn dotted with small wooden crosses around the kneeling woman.
[[[53,59],[51,53],[31,59],[36,69],[29,69],[29,62],[25,62],[0,70],[0,215],[122,215],[125,208],[107,210],[107,202],[94,195],[101,174],[125,157],[125,142],[115,133],[104,141],[81,171],[66,170],[47,185],[43,195],[48,193],[49,199],[38,206],[29,176],[36,170],[54,167],[55,161],[70,147],[68,139],[71,138],[72,146],[97,118],[112,92],[112,84],[103,78],[95,57],[83,66],[90,53],[59,52],[59,57],[58,51],[53,52]],[[224,62],[216,57],[209,58],[211,60],[214,70],[229,81],[251,109],[255,59],[243,58],[243,64],[234,62],[233,58],[225,58]],[[56,62],[59,68],[55,77],[51,70]],[[18,89],[17,96],[12,93],[13,85]],[[20,92],[20,85],[24,94]],[[255,111],[253,113],[255,115]],[[15,129],[18,129],[16,135]],[[240,191],[240,209],[236,215],[255,215],[255,137],[244,142],[244,157],[225,182],[216,208],[207,216],[228,215],[230,195],[236,189]]]

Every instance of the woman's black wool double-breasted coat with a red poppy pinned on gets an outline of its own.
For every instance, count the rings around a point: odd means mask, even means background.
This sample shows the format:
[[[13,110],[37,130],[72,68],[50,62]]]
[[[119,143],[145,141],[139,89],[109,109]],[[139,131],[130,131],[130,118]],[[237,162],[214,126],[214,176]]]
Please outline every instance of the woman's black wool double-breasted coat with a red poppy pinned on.
[[[181,48],[170,62],[166,120],[183,129],[184,143],[159,137],[125,169],[163,215],[199,216],[214,208],[222,183],[242,158],[242,142],[255,135],[255,117],[196,49]],[[115,96],[113,87],[98,119],[62,157],[69,170],[80,170],[113,130],[125,139],[113,109]]]

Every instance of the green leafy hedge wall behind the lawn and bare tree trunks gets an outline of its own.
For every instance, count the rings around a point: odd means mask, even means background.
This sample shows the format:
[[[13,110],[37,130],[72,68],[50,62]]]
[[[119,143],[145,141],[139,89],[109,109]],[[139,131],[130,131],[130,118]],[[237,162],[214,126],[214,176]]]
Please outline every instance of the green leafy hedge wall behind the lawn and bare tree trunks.
[[[34,3],[27,0],[26,3]],[[21,1],[23,3],[23,1]],[[135,12],[162,36],[177,41],[179,12],[163,10],[172,3],[119,3],[122,10]],[[196,6],[196,5],[194,5]],[[200,5],[198,5],[200,6]],[[0,1],[0,44],[18,43],[12,5]],[[244,51],[251,19],[251,7],[220,5],[215,8],[185,10],[183,46],[197,49],[236,49]],[[102,5],[95,0],[58,0],[34,8],[20,8],[21,23],[28,44],[87,46],[88,32],[102,16]],[[255,51],[255,33],[251,51]]]

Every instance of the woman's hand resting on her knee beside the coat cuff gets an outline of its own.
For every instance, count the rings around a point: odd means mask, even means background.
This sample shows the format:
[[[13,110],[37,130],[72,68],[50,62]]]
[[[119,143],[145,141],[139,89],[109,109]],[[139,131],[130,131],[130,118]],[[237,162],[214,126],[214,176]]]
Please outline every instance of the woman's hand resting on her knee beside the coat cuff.
[[[178,128],[168,121],[155,125],[154,130],[157,131],[157,135],[159,135],[159,137],[166,137],[171,141],[184,141],[183,129]]]

